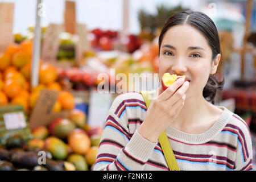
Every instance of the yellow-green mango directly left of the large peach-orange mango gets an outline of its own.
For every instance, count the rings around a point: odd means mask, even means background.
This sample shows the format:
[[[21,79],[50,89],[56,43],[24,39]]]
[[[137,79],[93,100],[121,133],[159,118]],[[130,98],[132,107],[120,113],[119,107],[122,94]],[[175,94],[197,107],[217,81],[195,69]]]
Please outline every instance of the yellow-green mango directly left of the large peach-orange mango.
[[[47,151],[51,152],[53,158],[55,159],[65,159],[68,155],[68,150],[66,144],[56,137],[48,137],[45,140],[45,145]]]

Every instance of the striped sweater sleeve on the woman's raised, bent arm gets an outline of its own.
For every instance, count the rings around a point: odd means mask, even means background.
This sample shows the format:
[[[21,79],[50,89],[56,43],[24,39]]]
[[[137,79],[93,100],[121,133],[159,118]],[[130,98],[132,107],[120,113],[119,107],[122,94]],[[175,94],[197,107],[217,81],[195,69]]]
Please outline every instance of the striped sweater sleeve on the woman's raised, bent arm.
[[[118,96],[110,107],[94,170],[141,171],[157,144],[143,138],[137,130],[130,133],[127,117],[117,116],[122,104],[123,98]]]

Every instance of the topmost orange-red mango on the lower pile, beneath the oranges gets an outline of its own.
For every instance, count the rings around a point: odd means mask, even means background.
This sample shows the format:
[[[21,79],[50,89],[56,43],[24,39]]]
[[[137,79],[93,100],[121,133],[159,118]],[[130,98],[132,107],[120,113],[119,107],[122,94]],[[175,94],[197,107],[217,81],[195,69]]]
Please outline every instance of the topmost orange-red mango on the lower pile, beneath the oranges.
[[[79,109],[73,109],[68,118],[76,123],[78,127],[83,127],[86,124],[86,115]]]

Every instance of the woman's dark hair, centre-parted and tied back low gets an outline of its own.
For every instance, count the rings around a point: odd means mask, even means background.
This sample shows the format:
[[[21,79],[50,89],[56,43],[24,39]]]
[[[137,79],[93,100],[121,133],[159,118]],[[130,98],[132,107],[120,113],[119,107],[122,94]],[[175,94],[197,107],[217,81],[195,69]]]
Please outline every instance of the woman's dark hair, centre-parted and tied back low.
[[[205,39],[207,40],[210,48],[212,49],[212,60],[216,58],[218,53],[221,53],[218,31],[212,19],[210,19],[204,13],[201,13],[198,11],[184,10],[184,11],[179,11],[174,15],[170,16],[170,18],[168,18],[166,23],[164,24],[164,27],[162,29],[162,32],[159,36],[159,41],[158,41],[159,55],[160,55],[160,47],[162,44],[164,34],[169,30],[169,28],[178,24],[189,24],[195,27],[197,30],[201,32],[201,34],[205,36]],[[222,61],[222,58],[220,60],[220,63],[221,61]],[[222,81],[218,81],[216,77],[216,73],[213,75],[210,74],[207,84],[205,85],[203,90],[204,98],[207,101],[210,101],[212,102],[212,104],[214,104],[214,97],[216,96],[216,93],[218,91],[223,89],[223,85],[224,85],[224,78]]]

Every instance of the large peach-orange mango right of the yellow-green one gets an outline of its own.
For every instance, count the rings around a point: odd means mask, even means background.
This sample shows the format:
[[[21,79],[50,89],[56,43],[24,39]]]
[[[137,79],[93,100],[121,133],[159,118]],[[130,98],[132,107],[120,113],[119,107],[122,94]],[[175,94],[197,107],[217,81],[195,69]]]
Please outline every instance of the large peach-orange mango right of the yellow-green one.
[[[90,148],[90,138],[86,133],[73,133],[68,136],[68,144],[72,151],[84,155]]]

